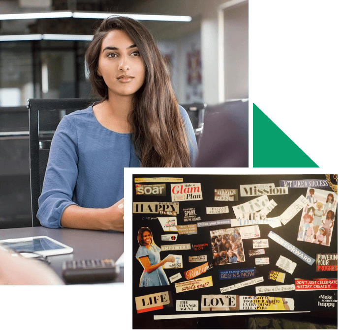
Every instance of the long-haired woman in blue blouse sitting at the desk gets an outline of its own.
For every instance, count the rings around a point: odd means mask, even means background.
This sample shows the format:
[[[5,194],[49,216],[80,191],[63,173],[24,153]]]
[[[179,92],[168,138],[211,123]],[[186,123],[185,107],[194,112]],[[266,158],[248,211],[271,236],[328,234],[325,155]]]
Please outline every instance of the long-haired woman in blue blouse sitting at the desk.
[[[156,43],[141,23],[105,19],[86,60],[101,100],[61,120],[37,218],[50,228],[124,231],[124,168],[189,167],[196,138]]]

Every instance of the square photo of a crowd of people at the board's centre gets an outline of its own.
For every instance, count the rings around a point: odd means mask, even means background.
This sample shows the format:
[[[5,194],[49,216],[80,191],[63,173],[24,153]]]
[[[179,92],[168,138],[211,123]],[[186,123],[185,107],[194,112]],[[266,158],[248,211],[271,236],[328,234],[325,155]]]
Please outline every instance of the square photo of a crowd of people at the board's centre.
[[[215,265],[245,261],[240,228],[228,228],[210,232]]]

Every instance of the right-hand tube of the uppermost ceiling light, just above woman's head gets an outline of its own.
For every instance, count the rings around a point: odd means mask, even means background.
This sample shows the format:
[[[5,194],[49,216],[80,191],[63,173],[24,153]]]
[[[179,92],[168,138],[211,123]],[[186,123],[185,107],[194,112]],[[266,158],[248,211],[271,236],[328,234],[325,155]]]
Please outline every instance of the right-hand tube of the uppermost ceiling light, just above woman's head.
[[[111,15],[125,16],[135,20],[146,21],[178,21],[190,22],[191,16],[182,15],[157,15],[157,14],[119,14],[119,13],[92,13],[92,12],[74,12],[73,17],[78,19],[106,19]]]

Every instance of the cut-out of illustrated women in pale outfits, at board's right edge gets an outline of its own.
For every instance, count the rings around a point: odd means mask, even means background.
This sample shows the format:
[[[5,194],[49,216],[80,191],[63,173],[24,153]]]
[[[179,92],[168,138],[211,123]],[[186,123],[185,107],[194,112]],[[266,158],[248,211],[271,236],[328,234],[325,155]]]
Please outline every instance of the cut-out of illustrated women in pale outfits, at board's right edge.
[[[297,236],[298,241],[329,246],[337,209],[337,195],[333,192],[308,188]]]

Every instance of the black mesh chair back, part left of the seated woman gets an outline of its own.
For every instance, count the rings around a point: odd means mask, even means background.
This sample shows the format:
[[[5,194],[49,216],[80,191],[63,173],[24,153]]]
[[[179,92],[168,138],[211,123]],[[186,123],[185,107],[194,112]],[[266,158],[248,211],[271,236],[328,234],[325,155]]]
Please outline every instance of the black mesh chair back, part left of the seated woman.
[[[32,226],[36,218],[38,197],[42,192],[51,140],[64,115],[92,105],[89,99],[28,99],[30,131],[30,183]]]

